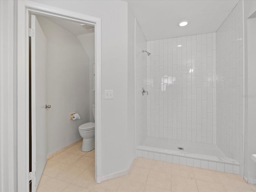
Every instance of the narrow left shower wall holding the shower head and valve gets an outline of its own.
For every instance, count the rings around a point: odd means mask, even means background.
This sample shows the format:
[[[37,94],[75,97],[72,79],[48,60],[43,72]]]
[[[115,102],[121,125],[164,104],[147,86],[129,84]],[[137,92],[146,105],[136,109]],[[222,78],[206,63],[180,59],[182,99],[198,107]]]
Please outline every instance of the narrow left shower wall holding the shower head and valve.
[[[135,26],[135,96],[136,96],[136,147],[141,145],[147,136],[147,98],[149,95],[142,96],[142,87],[147,90],[147,60],[148,55],[142,50],[147,50],[146,38],[136,21]]]

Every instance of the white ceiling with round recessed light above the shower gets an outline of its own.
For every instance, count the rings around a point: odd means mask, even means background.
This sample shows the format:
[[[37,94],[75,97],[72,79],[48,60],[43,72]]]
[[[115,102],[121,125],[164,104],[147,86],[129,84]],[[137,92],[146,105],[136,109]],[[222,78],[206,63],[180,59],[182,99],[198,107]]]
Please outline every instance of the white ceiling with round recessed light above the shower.
[[[239,0],[124,0],[146,39],[216,32]],[[181,20],[188,25],[178,26]]]

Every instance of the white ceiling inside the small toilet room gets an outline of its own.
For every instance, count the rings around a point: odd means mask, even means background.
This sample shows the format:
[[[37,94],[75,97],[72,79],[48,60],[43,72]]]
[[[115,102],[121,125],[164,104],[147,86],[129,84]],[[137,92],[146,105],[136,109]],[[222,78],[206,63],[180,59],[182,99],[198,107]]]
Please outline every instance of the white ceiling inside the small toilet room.
[[[72,22],[72,21],[54,18],[54,17],[47,17],[47,18],[76,36],[82,35],[82,34],[94,33],[94,29],[87,30],[86,28],[81,27],[80,23],[77,23],[77,22]]]

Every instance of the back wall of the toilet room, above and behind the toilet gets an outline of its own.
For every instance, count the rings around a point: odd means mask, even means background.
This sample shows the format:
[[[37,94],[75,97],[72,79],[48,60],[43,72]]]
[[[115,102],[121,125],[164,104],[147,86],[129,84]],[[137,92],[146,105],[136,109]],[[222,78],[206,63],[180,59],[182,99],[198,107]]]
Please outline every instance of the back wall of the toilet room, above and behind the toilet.
[[[95,34],[88,33],[78,35],[77,37],[90,58],[90,122],[95,122],[92,113],[92,104],[95,104],[95,91],[93,87],[93,64],[95,64]]]

